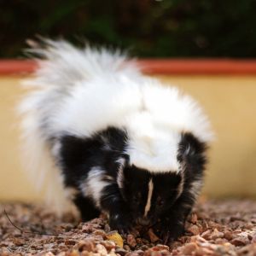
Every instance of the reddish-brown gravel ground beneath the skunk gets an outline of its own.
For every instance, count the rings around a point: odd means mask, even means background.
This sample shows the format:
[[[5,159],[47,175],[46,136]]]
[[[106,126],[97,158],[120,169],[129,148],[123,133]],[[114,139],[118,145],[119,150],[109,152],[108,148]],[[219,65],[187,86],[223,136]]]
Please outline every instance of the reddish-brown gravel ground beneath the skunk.
[[[9,222],[4,209],[23,232]],[[78,224],[72,216],[56,218],[38,206],[0,205],[0,255],[253,256],[256,255],[256,201],[201,202],[189,217],[184,236],[168,246],[161,242],[153,230],[121,237],[110,230],[105,218]]]

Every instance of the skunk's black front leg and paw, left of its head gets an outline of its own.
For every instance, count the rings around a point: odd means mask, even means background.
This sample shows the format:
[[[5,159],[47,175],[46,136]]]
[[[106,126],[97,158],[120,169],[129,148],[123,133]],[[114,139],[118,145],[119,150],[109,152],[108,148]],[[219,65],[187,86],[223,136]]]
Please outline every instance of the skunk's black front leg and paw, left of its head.
[[[116,183],[109,184],[102,190],[101,206],[108,212],[109,225],[113,230],[119,230],[122,234],[131,230],[131,215]]]

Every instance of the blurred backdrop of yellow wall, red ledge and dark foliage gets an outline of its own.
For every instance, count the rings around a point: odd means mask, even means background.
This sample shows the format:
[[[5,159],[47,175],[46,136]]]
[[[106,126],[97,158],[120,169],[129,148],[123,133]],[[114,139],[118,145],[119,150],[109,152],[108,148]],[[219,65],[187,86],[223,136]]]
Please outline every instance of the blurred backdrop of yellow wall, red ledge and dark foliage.
[[[194,96],[212,122],[216,140],[203,195],[256,198],[255,10],[255,0],[0,1],[0,200],[42,198],[20,164],[15,113],[20,81],[33,68],[7,61],[23,60],[26,39],[37,35],[128,49],[145,63],[150,58],[157,71],[145,72]]]

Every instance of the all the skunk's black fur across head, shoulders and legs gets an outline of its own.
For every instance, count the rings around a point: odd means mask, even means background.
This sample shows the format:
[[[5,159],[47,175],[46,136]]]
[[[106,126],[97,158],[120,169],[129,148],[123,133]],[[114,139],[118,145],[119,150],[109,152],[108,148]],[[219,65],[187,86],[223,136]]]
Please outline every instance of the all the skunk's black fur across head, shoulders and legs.
[[[155,226],[167,242],[183,233],[184,222],[194,206],[200,189],[206,163],[206,145],[191,133],[183,133],[177,160],[183,166],[178,172],[151,173],[129,164],[125,147],[129,137],[125,130],[109,127],[90,138],[63,136],[60,138],[59,165],[68,188],[78,190],[74,203],[83,220],[96,218],[99,212],[108,212],[109,224],[121,232],[131,230],[135,223]],[[125,162],[120,166],[119,160]],[[84,196],[81,183],[86,181],[91,169],[100,166],[101,180],[108,181],[102,188],[96,206],[93,197]],[[117,179],[122,167],[123,182]],[[148,200],[148,182],[152,179],[154,190],[147,218],[143,216]],[[193,189],[193,185],[196,184]],[[198,185],[199,184],[199,185]],[[159,219],[161,220],[159,222]]]

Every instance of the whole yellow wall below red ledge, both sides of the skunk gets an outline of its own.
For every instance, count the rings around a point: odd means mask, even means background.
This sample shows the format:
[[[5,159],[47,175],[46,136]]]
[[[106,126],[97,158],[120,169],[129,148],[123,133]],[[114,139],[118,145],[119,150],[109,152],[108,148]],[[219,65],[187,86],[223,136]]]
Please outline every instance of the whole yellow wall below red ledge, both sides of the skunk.
[[[194,96],[212,120],[216,141],[204,194],[256,197],[256,76],[159,76]],[[21,171],[15,102],[19,77],[0,77],[0,200],[39,198]]]

